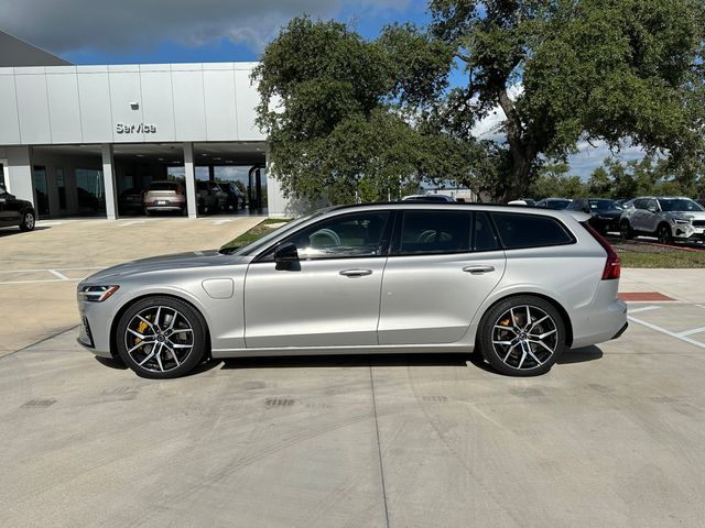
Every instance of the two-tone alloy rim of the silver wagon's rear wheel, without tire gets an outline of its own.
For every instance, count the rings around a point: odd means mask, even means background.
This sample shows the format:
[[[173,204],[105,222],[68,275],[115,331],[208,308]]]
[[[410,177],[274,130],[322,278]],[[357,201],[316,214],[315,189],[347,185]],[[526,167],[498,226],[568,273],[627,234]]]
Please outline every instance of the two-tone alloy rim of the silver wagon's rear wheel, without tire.
[[[541,308],[514,306],[505,311],[492,328],[492,348],[509,367],[538,369],[551,360],[558,345],[553,318]]]

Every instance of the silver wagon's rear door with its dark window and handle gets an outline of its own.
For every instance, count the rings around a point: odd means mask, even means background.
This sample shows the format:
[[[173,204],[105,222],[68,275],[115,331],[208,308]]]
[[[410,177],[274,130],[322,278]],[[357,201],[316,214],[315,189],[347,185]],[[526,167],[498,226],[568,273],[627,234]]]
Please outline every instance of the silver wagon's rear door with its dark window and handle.
[[[379,344],[459,341],[505,264],[485,212],[402,211],[382,278]]]

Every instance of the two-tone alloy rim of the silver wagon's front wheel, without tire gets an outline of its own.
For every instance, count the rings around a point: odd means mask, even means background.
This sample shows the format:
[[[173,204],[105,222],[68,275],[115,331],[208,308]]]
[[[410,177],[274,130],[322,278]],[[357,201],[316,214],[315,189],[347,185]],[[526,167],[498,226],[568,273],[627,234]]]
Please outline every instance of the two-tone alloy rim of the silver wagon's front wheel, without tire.
[[[181,366],[194,348],[194,329],[175,308],[151,306],[135,314],[124,330],[124,346],[138,366],[164,373]]]

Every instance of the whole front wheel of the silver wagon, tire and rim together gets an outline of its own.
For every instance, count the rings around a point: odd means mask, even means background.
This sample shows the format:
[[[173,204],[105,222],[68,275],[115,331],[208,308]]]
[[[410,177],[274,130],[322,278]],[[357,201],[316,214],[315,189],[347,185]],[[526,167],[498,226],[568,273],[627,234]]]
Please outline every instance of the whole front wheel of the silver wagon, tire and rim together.
[[[206,352],[206,323],[191,305],[173,297],[148,297],[130,306],[116,342],[124,363],[142,377],[183,376]]]

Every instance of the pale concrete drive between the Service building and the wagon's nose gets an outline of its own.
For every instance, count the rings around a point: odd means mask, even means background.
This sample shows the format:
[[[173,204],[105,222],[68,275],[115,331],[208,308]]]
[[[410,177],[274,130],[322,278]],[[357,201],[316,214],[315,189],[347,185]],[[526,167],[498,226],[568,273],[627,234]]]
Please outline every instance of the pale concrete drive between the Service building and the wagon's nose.
[[[134,258],[219,248],[262,217],[53,220],[0,229],[0,356],[75,327],[76,282]]]

